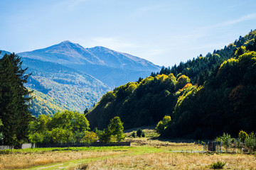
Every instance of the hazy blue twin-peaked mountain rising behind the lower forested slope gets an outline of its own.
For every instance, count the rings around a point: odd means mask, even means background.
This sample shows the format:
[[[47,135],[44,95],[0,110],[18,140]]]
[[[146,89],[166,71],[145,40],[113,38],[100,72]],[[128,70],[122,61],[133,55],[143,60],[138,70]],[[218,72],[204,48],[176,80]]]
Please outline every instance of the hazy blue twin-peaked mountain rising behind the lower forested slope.
[[[60,42],[40,50],[18,53],[21,57],[55,62],[90,74],[108,86],[119,86],[139,77],[147,77],[160,67],[132,55],[106,47],[84,48],[70,41]]]

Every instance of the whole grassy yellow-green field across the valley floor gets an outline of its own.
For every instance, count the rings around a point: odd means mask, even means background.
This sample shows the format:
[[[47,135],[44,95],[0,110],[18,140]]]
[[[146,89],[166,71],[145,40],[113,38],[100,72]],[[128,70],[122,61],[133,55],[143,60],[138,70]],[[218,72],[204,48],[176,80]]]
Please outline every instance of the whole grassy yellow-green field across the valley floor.
[[[203,146],[189,142],[132,138],[131,147],[69,147],[6,150],[0,154],[0,169],[210,169],[226,162],[223,169],[256,169],[253,154],[203,153]],[[153,137],[153,138],[152,138]]]

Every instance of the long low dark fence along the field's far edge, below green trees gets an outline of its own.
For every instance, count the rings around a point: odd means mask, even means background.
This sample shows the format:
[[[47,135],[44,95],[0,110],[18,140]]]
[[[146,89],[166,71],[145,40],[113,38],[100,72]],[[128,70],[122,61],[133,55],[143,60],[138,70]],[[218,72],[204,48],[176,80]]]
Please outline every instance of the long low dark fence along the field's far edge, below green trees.
[[[0,146],[0,150],[4,149],[27,149],[27,148],[35,148],[35,147],[111,147],[111,146],[131,146],[131,142],[110,142],[110,143],[102,143],[102,142],[93,142],[91,144],[88,143],[27,143],[16,145],[15,147],[11,146]]]

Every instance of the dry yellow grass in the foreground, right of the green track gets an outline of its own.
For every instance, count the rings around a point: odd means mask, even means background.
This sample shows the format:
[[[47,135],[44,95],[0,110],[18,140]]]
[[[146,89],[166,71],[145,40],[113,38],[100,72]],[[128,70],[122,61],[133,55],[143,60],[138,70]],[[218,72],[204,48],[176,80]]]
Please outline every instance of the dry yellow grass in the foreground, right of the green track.
[[[224,169],[256,169],[253,155],[198,153],[153,153],[117,157],[90,162],[87,169],[210,169],[210,164],[217,161],[227,162]]]

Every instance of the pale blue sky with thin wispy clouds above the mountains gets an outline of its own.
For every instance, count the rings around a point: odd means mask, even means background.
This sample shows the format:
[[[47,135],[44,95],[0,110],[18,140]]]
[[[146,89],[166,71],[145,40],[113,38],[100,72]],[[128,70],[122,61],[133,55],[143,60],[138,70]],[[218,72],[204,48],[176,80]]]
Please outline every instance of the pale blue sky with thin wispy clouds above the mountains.
[[[173,66],[256,29],[255,0],[1,0],[0,49],[70,40]]]

